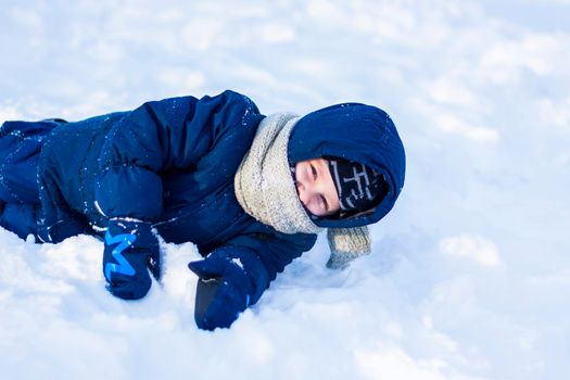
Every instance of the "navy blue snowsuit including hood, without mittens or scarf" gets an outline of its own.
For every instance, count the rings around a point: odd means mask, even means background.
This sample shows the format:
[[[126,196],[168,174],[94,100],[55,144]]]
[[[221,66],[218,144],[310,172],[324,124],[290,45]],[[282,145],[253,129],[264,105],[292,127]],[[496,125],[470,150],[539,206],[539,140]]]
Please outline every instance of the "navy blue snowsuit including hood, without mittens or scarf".
[[[204,256],[239,257],[248,267],[248,304],[253,304],[277,273],[316,241],[315,235],[276,231],[236,200],[235,174],[263,118],[249,98],[228,90],[75,123],[7,122],[0,129],[0,226],[21,238],[31,233],[38,242],[56,243],[79,233],[102,236],[105,229],[128,233],[135,223],[144,235],[139,242],[157,246],[154,228],[167,242],[195,243]],[[356,134],[346,127],[355,118]],[[389,143],[379,151],[371,141],[380,140]],[[291,135],[290,162],[324,155],[385,173],[390,190],[373,213],[321,226],[363,226],[392,208],[405,161],[385,113],[349,103],[303,117]],[[147,290],[122,297],[137,299]]]

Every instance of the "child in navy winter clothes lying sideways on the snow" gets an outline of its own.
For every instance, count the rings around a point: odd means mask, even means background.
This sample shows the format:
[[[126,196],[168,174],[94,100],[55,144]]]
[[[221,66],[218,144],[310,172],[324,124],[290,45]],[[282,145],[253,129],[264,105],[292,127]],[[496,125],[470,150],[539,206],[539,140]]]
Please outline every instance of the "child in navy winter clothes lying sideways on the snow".
[[[194,317],[229,327],[328,229],[330,267],[370,250],[405,155],[383,111],[358,103],[265,117],[246,97],[181,97],[75,123],[0,129],[0,226],[36,242],[104,241],[109,291],[141,299],[160,279],[156,235],[197,244]]]

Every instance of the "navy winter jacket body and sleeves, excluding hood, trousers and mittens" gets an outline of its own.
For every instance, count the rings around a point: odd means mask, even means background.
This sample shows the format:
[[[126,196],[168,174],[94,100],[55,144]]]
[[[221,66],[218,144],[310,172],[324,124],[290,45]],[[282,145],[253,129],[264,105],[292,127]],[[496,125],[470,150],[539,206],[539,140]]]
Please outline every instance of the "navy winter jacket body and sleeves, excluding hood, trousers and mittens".
[[[254,299],[314,235],[284,235],[240,207],[235,173],[264,116],[246,97],[165,99],[54,128],[39,164],[42,230],[59,242],[96,233],[110,219],[152,224],[167,242],[193,242],[202,255],[250,257]]]

